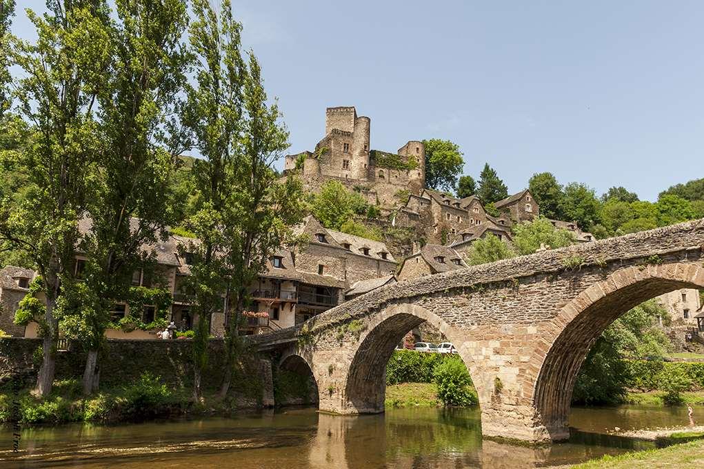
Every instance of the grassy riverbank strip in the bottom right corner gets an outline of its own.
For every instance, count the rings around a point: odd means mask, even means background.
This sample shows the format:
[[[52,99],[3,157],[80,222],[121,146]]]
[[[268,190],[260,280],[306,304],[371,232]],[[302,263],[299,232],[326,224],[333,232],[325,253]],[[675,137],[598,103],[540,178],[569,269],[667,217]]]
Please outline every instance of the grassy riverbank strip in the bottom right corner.
[[[572,469],[680,469],[704,465],[704,441],[675,444],[662,449],[649,449],[620,456],[603,456]]]

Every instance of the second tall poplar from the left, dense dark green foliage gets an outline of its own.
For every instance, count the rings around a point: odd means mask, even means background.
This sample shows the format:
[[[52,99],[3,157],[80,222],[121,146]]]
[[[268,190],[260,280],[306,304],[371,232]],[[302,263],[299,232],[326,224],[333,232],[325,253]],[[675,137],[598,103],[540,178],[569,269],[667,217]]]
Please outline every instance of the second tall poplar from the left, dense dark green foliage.
[[[87,204],[89,227],[80,242],[87,258],[84,288],[74,290],[79,295],[74,304],[89,302],[74,311],[81,315],[79,339],[88,351],[84,394],[99,384],[98,353],[113,303],[129,294],[134,271],[154,261],[156,253],[142,246],[165,240],[174,221],[172,207],[179,205],[168,189],[182,146],[169,116],[176,112],[187,64],[180,47],[186,5],[182,0],[116,4],[113,61],[98,94],[99,170]]]

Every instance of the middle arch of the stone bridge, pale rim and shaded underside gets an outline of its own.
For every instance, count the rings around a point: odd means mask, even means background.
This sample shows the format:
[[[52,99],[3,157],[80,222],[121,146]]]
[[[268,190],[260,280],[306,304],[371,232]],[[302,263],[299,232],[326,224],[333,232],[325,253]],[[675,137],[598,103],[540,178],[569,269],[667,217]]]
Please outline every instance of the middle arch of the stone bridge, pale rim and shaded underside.
[[[348,411],[381,413],[386,394],[386,364],[396,345],[408,331],[426,322],[439,330],[458,349],[479,396],[483,395],[479,370],[464,346],[467,335],[453,329],[445,320],[422,306],[394,304],[375,315],[360,335],[348,367],[345,396]],[[480,398],[481,399],[481,398]]]

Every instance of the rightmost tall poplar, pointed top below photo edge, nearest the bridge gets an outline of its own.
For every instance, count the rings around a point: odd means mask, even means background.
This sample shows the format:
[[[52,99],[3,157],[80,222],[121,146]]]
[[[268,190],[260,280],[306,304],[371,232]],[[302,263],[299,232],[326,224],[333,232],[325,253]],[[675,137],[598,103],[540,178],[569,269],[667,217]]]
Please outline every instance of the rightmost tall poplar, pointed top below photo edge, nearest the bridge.
[[[230,389],[237,358],[239,321],[249,304],[249,287],[273,254],[294,240],[291,226],[303,218],[303,187],[296,177],[279,182],[273,168],[288,148],[289,132],[280,123],[274,102],[268,104],[261,69],[249,53],[249,73],[244,80],[241,145],[238,150],[237,184],[230,187],[232,202],[225,223],[227,268],[232,273],[225,294],[225,370],[220,395]]]

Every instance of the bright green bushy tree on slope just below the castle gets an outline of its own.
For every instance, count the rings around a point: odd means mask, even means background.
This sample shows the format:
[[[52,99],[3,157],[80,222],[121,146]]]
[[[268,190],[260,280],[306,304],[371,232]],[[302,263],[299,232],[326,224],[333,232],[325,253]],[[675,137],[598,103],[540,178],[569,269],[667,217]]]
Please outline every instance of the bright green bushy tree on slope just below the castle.
[[[311,211],[326,228],[339,231],[354,215],[366,215],[369,204],[358,192],[349,191],[341,182],[330,180],[313,195]]]

